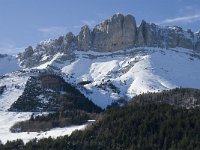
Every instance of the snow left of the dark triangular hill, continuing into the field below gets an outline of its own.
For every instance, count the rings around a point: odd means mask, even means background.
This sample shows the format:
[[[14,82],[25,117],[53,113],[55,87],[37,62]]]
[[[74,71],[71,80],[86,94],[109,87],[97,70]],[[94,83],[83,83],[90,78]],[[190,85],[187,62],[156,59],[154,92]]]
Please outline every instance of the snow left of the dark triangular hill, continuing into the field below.
[[[0,93],[0,141],[22,139],[25,143],[32,139],[56,138],[58,136],[70,135],[75,130],[84,129],[87,124],[70,126],[64,128],[54,128],[46,132],[22,132],[11,133],[10,128],[17,122],[30,119],[32,112],[9,112],[10,106],[22,95],[26,82],[30,76],[37,76],[38,70],[26,69],[7,73],[0,77],[0,87],[5,87]],[[34,113],[39,115],[40,113]]]

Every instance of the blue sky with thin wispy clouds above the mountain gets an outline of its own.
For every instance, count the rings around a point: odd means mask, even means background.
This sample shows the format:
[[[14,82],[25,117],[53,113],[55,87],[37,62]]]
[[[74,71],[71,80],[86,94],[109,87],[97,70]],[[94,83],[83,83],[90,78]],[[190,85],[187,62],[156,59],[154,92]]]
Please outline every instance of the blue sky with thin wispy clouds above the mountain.
[[[0,0],[0,53],[16,54],[42,40],[81,26],[94,25],[115,13],[162,26],[200,30],[200,0]]]

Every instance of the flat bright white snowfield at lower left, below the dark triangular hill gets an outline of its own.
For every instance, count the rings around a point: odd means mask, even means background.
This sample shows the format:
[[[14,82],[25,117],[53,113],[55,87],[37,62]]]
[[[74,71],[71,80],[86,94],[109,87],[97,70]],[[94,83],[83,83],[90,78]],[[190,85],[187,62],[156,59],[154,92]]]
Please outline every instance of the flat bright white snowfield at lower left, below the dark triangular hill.
[[[42,139],[42,138],[56,138],[58,136],[70,135],[75,130],[84,129],[87,124],[79,126],[71,126],[65,128],[54,128],[46,132],[21,132],[21,133],[11,133],[10,127],[16,122],[24,121],[30,118],[32,113],[23,112],[0,112],[0,141],[6,143],[8,140],[13,141],[17,139],[22,139],[25,143],[32,139]]]

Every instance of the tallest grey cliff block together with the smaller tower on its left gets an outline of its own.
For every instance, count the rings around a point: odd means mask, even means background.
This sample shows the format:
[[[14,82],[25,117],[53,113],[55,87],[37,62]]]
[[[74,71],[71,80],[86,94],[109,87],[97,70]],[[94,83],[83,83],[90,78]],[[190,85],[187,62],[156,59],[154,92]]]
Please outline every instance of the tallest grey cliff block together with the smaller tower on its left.
[[[136,42],[136,21],[131,15],[116,14],[90,30],[83,26],[77,36],[78,49],[115,51],[131,48]]]

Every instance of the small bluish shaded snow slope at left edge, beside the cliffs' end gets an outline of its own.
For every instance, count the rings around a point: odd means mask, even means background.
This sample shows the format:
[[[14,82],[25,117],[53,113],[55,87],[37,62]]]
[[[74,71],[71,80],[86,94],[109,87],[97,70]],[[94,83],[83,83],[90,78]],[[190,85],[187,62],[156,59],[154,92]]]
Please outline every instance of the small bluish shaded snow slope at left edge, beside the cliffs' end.
[[[0,54],[0,76],[19,69],[18,60],[15,56]]]

